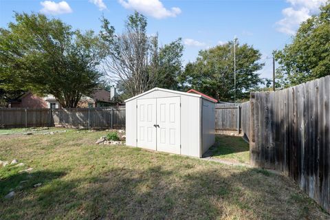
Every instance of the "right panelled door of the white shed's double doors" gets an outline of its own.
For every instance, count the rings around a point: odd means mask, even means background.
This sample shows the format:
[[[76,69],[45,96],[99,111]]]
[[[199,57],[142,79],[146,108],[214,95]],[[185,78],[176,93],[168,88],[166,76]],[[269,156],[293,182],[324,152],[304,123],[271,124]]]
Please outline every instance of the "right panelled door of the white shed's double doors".
[[[157,151],[180,154],[180,98],[157,98]]]

